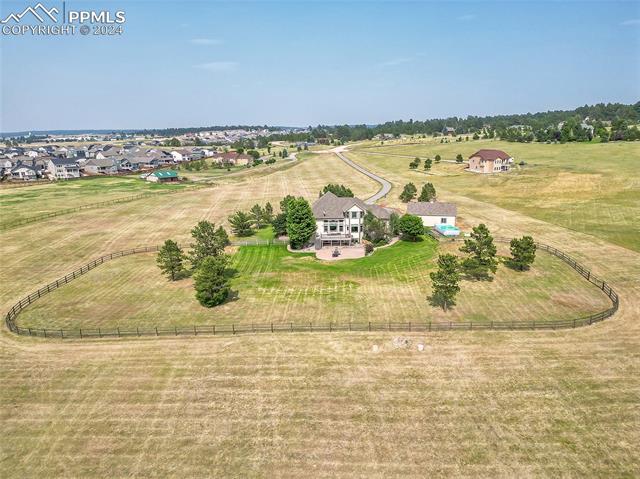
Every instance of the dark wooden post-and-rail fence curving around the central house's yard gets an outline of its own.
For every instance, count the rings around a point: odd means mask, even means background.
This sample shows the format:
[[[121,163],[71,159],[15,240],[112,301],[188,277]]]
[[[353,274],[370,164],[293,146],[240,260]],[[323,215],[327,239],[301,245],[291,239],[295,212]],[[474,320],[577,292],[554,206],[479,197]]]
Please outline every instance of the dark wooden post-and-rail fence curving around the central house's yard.
[[[496,238],[498,242],[508,242],[504,238]],[[286,241],[279,240],[256,240],[241,241],[234,243],[237,246],[243,245],[268,245],[286,244]],[[193,325],[193,326],[152,326],[152,327],[131,327],[130,329],[116,328],[78,328],[78,329],[48,329],[23,327],[16,322],[20,312],[37,301],[42,296],[64,286],[76,278],[88,273],[101,264],[123,256],[139,253],[150,253],[159,251],[160,246],[143,246],[132,248],[116,253],[110,253],[83,265],[66,276],[57,279],[46,286],[22,298],[5,315],[5,323],[10,331],[19,335],[35,336],[43,338],[108,338],[108,337],[140,337],[140,336],[198,336],[202,334],[223,335],[223,334],[244,334],[244,333],[300,333],[300,332],[339,332],[339,331],[395,331],[395,332],[431,332],[431,331],[477,331],[477,330],[549,330],[568,329],[581,326],[588,326],[607,319],[615,314],[619,307],[617,293],[607,284],[606,281],[597,277],[590,270],[578,263],[574,258],[565,252],[543,243],[536,243],[538,249],[548,252],[567,263],[577,271],[583,278],[597,286],[611,300],[611,307],[588,316],[570,318],[557,321],[418,321],[418,322],[333,322],[328,323],[268,323],[268,324],[230,324],[230,325]]]

